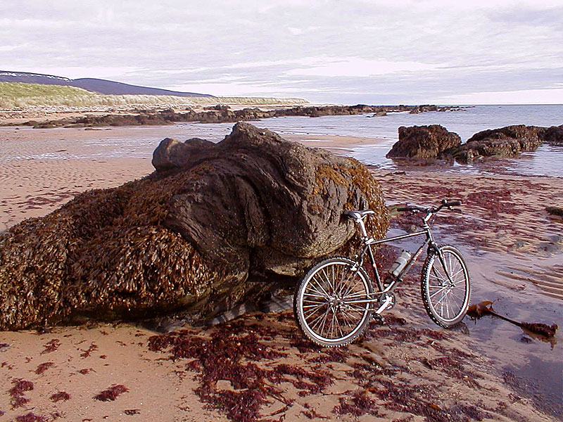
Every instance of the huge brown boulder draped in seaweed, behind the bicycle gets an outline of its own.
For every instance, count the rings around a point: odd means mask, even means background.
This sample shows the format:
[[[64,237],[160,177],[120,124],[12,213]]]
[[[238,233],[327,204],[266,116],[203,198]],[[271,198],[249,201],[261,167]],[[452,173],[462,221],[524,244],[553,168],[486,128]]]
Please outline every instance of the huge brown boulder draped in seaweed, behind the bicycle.
[[[0,235],[0,329],[207,319],[353,248],[343,210],[375,210],[376,237],[388,226],[364,165],[251,124],[217,144],[166,139],[153,164],[144,179],[87,191]]]

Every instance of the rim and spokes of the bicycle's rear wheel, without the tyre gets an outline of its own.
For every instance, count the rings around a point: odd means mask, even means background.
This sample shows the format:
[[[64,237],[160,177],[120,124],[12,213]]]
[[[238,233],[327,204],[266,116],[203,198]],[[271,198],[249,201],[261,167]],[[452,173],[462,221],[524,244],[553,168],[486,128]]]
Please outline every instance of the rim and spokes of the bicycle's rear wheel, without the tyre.
[[[301,319],[308,331],[327,343],[341,342],[355,335],[369,316],[368,283],[350,264],[331,262],[318,268],[301,290]]]

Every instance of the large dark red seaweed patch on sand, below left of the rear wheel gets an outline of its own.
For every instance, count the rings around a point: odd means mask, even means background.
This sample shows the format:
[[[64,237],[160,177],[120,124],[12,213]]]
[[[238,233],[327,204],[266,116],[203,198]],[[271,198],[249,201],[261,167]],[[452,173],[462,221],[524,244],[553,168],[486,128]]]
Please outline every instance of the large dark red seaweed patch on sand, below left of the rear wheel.
[[[322,392],[334,382],[330,374],[318,366],[308,370],[290,364],[269,364],[268,369],[263,369],[255,363],[286,356],[285,352],[262,341],[263,337],[273,339],[284,331],[245,324],[243,320],[222,324],[210,331],[205,337],[186,330],[154,335],[148,338],[148,347],[154,352],[169,352],[173,360],[189,359],[186,371],[196,371],[200,383],[196,395],[232,421],[260,420],[263,417],[260,409],[272,399],[290,407],[293,400],[281,397],[281,390],[276,387],[281,383],[291,383],[303,397]],[[291,331],[285,334],[290,341],[301,340]],[[311,343],[303,344],[303,348],[319,350]],[[341,362],[345,355],[346,352],[341,351],[323,352],[319,358],[323,362]],[[228,381],[232,389],[217,387],[217,381]]]

